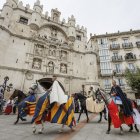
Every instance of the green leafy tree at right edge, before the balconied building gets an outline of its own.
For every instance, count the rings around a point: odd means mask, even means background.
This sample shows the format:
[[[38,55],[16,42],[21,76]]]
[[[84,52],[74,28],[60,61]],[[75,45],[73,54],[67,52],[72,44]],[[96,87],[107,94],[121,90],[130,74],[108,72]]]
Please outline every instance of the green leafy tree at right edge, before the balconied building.
[[[137,96],[140,96],[140,68],[136,68],[135,71],[126,69],[124,76],[127,84],[136,91]]]

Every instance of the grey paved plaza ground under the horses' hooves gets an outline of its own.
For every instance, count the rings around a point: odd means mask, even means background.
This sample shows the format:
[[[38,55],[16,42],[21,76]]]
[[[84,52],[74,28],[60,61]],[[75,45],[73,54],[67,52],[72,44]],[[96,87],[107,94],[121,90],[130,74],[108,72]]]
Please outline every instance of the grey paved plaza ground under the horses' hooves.
[[[78,114],[75,114],[76,118]],[[90,114],[90,122],[86,123],[85,114],[81,116],[74,132],[65,127],[63,133],[59,133],[61,125],[45,124],[43,134],[33,134],[31,117],[27,122],[19,122],[13,125],[15,115],[0,115],[0,140],[139,140],[140,134],[135,131],[128,132],[128,127],[123,125],[124,134],[119,134],[119,129],[112,128],[111,134],[106,134],[107,122],[103,120],[97,123],[99,116]],[[38,128],[39,129],[39,128]],[[139,127],[140,129],[140,127]]]

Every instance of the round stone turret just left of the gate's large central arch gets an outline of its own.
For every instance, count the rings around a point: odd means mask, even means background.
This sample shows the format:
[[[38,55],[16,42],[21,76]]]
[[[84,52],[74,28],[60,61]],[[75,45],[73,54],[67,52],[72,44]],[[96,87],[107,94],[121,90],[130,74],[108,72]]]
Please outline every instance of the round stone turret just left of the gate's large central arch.
[[[33,7],[32,17],[30,21],[30,28],[33,30],[38,30],[41,24],[41,15],[43,11],[43,5],[40,5],[40,1],[37,0]]]

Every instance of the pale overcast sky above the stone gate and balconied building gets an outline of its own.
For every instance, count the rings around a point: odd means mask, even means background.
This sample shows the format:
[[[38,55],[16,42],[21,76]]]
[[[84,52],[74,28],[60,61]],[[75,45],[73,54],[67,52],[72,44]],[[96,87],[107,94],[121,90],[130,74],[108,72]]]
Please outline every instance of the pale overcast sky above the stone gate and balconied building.
[[[0,0],[0,9],[6,0]],[[36,0],[22,0],[33,4]],[[61,19],[72,14],[76,23],[88,29],[88,35],[140,29],[140,0],[40,0],[44,12],[58,8]]]

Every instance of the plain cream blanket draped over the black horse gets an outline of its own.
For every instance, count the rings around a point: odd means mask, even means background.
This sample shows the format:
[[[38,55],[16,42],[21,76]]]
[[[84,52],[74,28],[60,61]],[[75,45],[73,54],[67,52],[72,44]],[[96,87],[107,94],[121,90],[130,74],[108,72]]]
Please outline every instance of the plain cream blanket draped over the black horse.
[[[96,101],[93,100],[92,97],[86,99],[86,109],[89,112],[99,113],[104,110],[104,107],[105,107],[104,102],[97,103]]]

